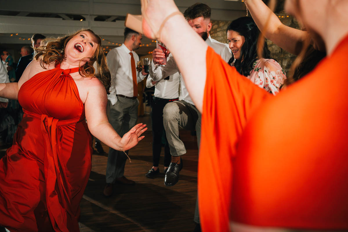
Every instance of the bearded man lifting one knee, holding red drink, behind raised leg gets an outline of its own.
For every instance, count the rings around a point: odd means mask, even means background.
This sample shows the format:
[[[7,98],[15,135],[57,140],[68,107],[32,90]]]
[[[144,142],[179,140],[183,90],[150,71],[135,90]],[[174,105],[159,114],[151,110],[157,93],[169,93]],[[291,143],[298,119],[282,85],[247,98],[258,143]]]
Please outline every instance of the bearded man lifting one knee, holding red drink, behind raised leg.
[[[184,16],[193,30],[195,30],[197,34],[224,59],[224,61],[228,62],[232,57],[228,45],[212,39],[209,35],[209,31],[212,28],[212,23],[210,22],[210,7],[203,3],[196,3],[185,10]],[[163,61],[164,53],[155,49],[152,56],[153,62],[151,62],[150,76],[153,81],[159,81],[179,71],[173,57],[168,58],[167,66],[155,67],[158,62]],[[201,114],[192,102],[183,80],[181,80],[179,101],[168,103],[163,109],[163,125],[166,130],[172,155],[172,161],[165,175],[164,183],[166,186],[173,186],[179,180],[179,171],[182,168],[182,160],[180,157],[186,153],[185,145],[179,138],[179,126],[187,130],[196,130],[198,147],[200,142]],[[197,225],[199,227],[197,203],[194,221],[198,223]]]

